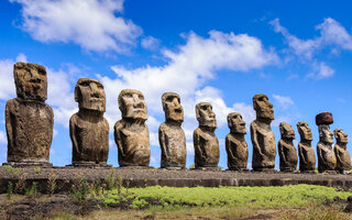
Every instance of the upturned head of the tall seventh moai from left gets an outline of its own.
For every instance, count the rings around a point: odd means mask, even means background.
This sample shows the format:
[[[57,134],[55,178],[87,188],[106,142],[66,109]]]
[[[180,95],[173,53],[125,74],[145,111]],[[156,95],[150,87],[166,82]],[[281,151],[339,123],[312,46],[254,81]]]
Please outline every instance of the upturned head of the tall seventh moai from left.
[[[256,112],[256,118],[274,120],[273,105],[264,94],[253,97],[253,108]]]

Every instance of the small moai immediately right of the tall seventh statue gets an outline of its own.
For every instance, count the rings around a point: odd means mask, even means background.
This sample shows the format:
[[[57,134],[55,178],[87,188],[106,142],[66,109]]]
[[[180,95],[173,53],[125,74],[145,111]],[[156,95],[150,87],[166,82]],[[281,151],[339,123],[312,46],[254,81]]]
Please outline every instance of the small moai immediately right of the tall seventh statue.
[[[282,139],[278,141],[278,156],[280,172],[295,172],[297,168],[297,151],[294,145],[295,131],[288,123],[279,123]]]

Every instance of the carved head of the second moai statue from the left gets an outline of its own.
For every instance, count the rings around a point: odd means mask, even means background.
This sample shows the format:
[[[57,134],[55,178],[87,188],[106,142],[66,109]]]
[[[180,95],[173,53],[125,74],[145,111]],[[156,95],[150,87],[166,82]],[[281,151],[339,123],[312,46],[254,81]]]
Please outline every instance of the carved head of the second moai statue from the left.
[[[75,100],[79,109],[105,112],[106,92],[100,81],[89,78],[78,79],[75,87]]]

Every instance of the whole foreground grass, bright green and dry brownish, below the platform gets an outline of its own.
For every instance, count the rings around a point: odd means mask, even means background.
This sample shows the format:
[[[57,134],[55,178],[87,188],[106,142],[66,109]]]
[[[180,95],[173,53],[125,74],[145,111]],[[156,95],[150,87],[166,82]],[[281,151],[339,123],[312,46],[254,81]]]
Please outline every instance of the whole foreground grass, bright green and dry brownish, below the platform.
[[[50,219],[296,219],[343,220],[351,191],[332,187],[292,185],[282,187],[175,188],[145,187],[110,190],[101,187],[77,188],[72,199],[84,207],[97,201],[85,216],[56,212]],[[14,200],[20,198],[15,196]],[[42,199],[37,199],[41,202]],[[50,202],[50,197],[45,200]],[[41,218],[37,218],[41,219]]]

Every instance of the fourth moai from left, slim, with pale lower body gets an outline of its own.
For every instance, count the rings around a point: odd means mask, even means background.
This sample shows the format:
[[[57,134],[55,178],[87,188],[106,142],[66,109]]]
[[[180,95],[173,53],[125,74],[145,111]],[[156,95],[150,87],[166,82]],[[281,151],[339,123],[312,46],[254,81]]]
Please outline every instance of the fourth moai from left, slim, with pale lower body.
[[[185,168],[186,136],[180,124],[184,122],[184,109],[175,92],[162,96],[165,122],[158,128],[158,142],[162,147],[162,168]]]

